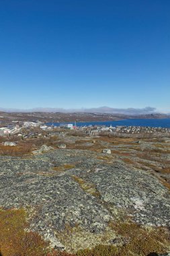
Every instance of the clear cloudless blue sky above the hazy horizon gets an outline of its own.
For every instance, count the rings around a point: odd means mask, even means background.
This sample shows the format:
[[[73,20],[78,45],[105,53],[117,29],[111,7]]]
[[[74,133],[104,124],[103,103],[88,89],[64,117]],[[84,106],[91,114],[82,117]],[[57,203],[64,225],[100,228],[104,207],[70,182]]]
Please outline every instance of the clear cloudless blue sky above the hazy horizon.
[[[170,112],[169,0],[0,0],[0,107]]]

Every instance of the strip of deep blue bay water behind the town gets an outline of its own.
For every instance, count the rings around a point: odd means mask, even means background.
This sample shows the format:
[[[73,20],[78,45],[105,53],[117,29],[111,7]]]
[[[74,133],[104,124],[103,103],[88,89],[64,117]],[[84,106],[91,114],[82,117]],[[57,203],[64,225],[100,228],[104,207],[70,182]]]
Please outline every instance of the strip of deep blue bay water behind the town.
[[[70,122],[75,124],[74,122]],[[60,126],[64,123],[46,123],[46,125]],[[67,123],[66,123],[67,124]],[[77,122],[78,127],[89,125],[105,125],[105,126],[144,126],[144,127],[162,127],[170,128],[170,119],[126,119],[120,121],[105,121],[105,122]]]

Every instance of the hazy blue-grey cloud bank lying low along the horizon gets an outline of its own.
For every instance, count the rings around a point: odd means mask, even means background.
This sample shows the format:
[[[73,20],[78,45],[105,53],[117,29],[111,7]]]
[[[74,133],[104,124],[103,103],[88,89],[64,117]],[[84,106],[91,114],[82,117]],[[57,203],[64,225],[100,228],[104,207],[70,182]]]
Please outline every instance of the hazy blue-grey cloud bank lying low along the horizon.
[[[147,106],[145,108],[110,108],[101,106],[99,108],[32,108],[32,109],[15,109],[0,108],[0,111],[7,113],[101,113],[101,114],[120,114],[120,115],[151,115],[157,114],[156,108]],[[170,115],[170,114],[168,114]]]

